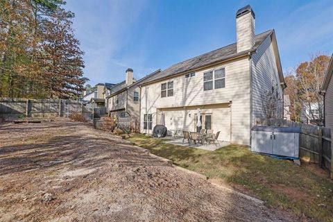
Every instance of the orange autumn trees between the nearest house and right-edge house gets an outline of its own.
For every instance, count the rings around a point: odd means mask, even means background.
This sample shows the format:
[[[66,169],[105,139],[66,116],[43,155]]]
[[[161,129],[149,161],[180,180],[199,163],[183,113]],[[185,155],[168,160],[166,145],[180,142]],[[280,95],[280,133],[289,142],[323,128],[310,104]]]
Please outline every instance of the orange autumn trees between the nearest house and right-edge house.
[[[284,77],[289,95],[291,120],[323,125],[323,96],[319,94],[325,77],[330,56],[323,53],[310,55],[309,60],[301,62],[295,69],[289,69]],[[286,110],[284,110],[286,112]]]

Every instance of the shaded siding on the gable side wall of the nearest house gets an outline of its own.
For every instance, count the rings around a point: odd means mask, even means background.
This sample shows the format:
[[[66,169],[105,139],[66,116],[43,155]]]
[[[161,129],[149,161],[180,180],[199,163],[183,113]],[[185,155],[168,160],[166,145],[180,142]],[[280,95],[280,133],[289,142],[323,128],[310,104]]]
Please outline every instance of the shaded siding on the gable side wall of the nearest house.
[[[253,124],[256,118],[264,118],[262,96],[268,92],[278,95],[278,118],[282,118],[283,95],[278,74],[278,67],[275,61],[275,54],[271,38],[267,37],[258,47],[257,52],[252,56],[252,82],[253,82]]]

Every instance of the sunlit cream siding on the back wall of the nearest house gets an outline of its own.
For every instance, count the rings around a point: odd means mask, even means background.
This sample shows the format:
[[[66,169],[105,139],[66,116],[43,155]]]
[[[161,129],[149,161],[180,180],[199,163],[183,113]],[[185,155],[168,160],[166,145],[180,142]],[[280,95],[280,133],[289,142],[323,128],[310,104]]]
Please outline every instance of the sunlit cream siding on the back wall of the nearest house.
[[[223,65],[216,65],[210,69],[196,71],[196,77],[191,80],[184,75],[173,78],[173,99],[161,99],[161,83],[153,83],[142,87],[141,94],[141,118],[143,114],[153,114],[153,126],[158,123],[160,108],[177,108],[189,105],[205,105],[216,103],[229,103],[232,101],[232,142],[235,144],[250,144],[250,65],[248,58],[234,60]],[[225,87],[214,90],[203,90],[203,74],[212,69],[225,68]],[[214,84],[214,83],[213,83]],[[228,109],[230,112],[230,109]],[[175,116],[176,117],[176,116]],[[177,117],[178,118],[178,117]],[[188,118],[188,116],[186,117]],[[194,118],[194,116],[191,118]],[[213,127],[216,119],[213,116]],[[224,118],[223,116],[221,117]],[[228,118],[228,117],[227,117]],[[167,117],[165,119],[167,120]],[[185,116],[177,119],[177,124],[185,124]],[[216,130],[218,130],[216,128]],[[141,128],[142,133],[146,130]],[[227,136],[228,137],[228,136]],[[230,141],[230,139],[226,139]]]

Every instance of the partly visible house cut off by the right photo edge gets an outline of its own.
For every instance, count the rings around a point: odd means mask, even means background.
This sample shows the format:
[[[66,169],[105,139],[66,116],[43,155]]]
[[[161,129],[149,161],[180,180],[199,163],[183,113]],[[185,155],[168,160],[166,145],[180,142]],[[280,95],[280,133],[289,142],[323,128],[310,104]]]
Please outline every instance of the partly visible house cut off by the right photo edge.
[[[333,54],[327,67],[321,94],[324,96],[324,124],[333,129]]]

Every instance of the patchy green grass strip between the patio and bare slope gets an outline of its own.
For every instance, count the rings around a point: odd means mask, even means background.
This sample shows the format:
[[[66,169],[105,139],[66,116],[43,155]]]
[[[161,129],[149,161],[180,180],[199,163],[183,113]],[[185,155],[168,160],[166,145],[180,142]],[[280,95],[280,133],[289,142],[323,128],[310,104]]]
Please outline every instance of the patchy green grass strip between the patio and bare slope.
[[[333,221],[332,180],[288,160],[251,153],[248,147],[239,145],[205,151],[139,134],[129,140],[180,167],[218,179],[274,207],[319,221]]]

